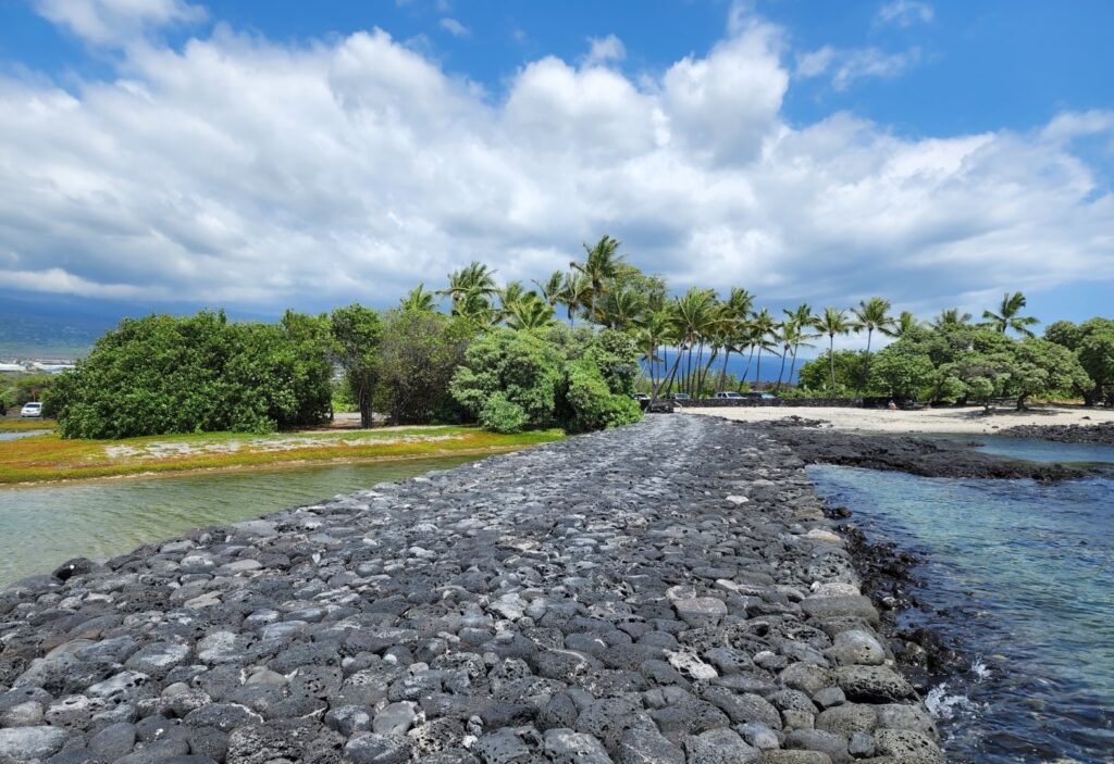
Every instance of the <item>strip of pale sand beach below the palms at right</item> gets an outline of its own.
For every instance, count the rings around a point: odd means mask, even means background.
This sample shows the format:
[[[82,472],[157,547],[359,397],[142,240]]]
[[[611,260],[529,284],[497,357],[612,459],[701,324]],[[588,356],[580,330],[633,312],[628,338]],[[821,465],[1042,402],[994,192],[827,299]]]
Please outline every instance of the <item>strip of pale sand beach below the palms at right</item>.
[[[1033,408],[1028,411],[999,408],[989,416],[983,413],[981,406],[924,409],[920,411],[890,411],[885,408],[770,406],[761,408],[687,408],[684,409],[684,413],[719,416],[736,421],[768,421],[797,415],[804,419],[824,419],[830,421],[832,427],[841,430],[873,433],[991,434],[995,430],[1016,425],[1097,425],[1104,421],[1114,421],[1114,409],[1054,406]]]

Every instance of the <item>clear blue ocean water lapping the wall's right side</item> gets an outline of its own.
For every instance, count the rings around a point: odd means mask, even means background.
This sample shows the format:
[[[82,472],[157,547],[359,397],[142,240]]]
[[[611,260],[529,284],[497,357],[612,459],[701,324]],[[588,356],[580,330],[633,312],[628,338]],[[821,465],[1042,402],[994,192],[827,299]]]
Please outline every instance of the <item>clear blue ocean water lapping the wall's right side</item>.
[[[1106,447],[1010,440],[984,448],[1114,462]],[[915,587],[925,607],[902,623],[936,631],[971,664],[928,698],[949,761],[1114,762],[1114,472],[1058,485],[824,465],[809,475],[869,538],[926,560]]]

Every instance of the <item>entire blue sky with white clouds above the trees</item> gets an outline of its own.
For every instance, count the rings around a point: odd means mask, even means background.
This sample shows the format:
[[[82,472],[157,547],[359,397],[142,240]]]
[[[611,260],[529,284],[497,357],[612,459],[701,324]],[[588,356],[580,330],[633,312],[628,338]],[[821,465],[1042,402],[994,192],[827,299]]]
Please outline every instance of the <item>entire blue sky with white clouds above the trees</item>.
[[[1111,315],[1112,28],[1105,0],[0,0],[0,299],[385,306],[609,234],[773,307]]]

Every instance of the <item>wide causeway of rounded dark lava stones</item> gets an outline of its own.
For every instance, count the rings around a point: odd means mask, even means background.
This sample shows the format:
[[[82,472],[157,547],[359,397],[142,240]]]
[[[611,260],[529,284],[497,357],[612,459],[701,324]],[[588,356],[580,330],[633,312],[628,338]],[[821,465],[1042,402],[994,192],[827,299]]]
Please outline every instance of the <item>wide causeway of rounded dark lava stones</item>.
[[[0,593],[0,764],[944,762],[831,527],[654,416],[74,560]]]

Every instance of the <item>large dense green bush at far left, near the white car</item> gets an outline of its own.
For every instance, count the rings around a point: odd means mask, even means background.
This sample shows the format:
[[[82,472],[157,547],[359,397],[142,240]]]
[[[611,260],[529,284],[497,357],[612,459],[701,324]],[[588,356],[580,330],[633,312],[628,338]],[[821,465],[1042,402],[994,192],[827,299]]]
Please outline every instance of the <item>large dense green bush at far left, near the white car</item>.
[[[223,312],[125,319],[47,396],[63,437],[270,431],[323,421],[332,364],[317,319]]]

